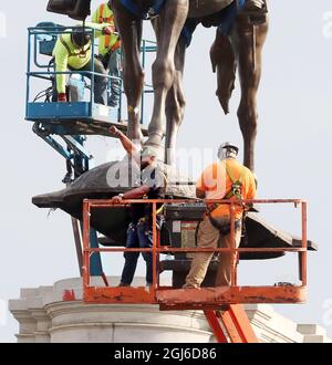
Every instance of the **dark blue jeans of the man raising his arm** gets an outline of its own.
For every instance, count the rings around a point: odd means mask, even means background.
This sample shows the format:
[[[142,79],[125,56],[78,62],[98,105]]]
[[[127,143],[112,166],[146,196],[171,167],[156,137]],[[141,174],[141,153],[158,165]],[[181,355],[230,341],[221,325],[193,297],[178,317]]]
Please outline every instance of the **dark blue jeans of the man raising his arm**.
[[[153,248],[153,233],[152,227],[144,222],[137,225],[131,223],[127,231],[127,249],[152,249]],[[153,254],[152,252],[142,252],[146,262],[146,283],[153,283]],[[139,252],[125,252],[125,264],[122,272],[121,282],[124,285],[131,285],[139,258]]]

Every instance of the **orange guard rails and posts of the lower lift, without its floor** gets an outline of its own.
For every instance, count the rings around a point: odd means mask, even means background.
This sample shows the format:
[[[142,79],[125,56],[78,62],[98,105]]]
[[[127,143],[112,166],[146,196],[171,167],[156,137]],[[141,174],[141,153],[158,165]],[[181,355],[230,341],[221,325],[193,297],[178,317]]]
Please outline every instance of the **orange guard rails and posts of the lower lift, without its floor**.
[[[216,248],[216,249],[201,249],[201,248],[173,248],[162,247],[159,236],[157,232],[156,218],[157,218],[157,205],[159,204],[227,204],[229,205],[230,211],[230,248]],[[153,248],[152,249],[127,249],[127,248],[90,248],[89,237],[91,228],[91,215],[94,209],[98,208],[114,208],[123,207],[127,208],[133,204],[149,204],[153,206]],[[235,207],[242,205],[255,205],[255,204],[293,204],[295,208],[301,206],[301,225],[302,225],[302,244],[299,248],[236,248],[235,246]],[[84,288],[90,288],[90,258],[94,253],[102,252],[152,252],[153,253],[153,289],[156,291],[159,288],[159,273],[157,272],[157,264],[159,263],[159,255],[162,253],[191,253],[191,252],[232,252],[232,253],[248,253],[248,252],[298,252],[300,255],[300,279],[304,288],[308,284],[307,278],[307,259],[308,259],[308,237],[307,237],[307,201],[303,199],[248,199],[248,200],[197,200],[197,199],[135,199],[135,200],[123,200],[121,204],[115,204],[110,199],[96,200],[85,199],[83,201],[83,255],[84,255],[84,275],[83,282]],[[237,286],[237,267],[231,269],[231,286]]]

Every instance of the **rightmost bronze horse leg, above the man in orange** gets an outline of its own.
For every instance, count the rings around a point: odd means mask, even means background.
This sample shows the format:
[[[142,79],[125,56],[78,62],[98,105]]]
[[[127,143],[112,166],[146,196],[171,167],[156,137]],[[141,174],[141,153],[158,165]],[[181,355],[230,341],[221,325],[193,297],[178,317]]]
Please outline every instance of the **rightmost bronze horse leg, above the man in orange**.
[[[268,19],[262,24],[250,24],[239,17],[235,27],[235,44],[239,65],[241,101],[238,118],[245,143],[245,166],[255,171],[257,135],[257,92],[261,79],[262,48],[268,34]]]

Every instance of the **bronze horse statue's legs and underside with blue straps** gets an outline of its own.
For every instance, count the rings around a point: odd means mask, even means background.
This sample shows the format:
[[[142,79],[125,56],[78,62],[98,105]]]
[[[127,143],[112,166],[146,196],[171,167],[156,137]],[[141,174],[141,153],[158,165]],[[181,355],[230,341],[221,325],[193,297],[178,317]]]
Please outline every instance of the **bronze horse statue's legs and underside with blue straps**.
[[[166,136],[165,161],[168,164],[174,164],[177,133],[184,117],[183,72],[190,33],[198,23],[215,25],[218,31],[211,48],[211,62],[214,71],[217,72],[217,96],[225,113],[228,113],[238,64],[242,88],[238,116],[245,142],[245,165],[253,170],[256,94],[268,21],[252,25],[245,14],[259,13],[267,7],[266,0],[113,0],[112,6],[123,41],[128,137],[138,143],[142,140],[139,121],[144,85],[141,64],[143,20],[152,19],[158,45],[153,64],[154,109],[145,144],[160,147]],[[228,17],[225,11],[230,12]],[[222,18],[226,18],[226,25],[222,25]],[[219,27],[228,29],[219,31]]]

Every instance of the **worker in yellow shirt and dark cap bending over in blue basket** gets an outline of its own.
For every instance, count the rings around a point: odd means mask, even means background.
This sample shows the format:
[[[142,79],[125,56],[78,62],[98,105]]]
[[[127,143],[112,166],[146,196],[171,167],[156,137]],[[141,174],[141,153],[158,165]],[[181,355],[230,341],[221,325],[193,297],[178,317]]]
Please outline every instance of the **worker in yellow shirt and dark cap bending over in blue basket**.
[[[115,27],[114,24],[85,24],[95,29],[95,36],[111,35]],[[61,34],[53,50],[56,72],[86,71],[92,70],[92,61],[94,62],[94,72],[105,76],[94,76],[94,102],[106,105],[106,92],[108,84],[108,75],[102,62],[92,54],[91,31],[83,27],[76,27],[72,31]],[[92,79],[91,74],[84,76]],[[68,102],[66,97],[66,76],[65,74],[56,75],[58,102]]]

